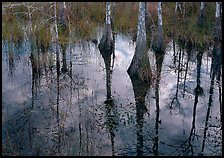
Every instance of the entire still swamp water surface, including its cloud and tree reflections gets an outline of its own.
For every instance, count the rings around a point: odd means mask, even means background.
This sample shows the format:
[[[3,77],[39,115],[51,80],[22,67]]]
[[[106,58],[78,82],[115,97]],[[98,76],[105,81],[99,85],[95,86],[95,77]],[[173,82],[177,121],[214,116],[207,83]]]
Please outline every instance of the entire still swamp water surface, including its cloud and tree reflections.
[[[2,41],[3,154],[221,156],[222,75],[211,71],[213,48],[170,41],[164,55],[149,51],[160,80],[133,87],[127,69],[135,46],[116,35],[106,84],[91,41],[60,46],[60,69],[54,44],[31,56],[29,41]]]

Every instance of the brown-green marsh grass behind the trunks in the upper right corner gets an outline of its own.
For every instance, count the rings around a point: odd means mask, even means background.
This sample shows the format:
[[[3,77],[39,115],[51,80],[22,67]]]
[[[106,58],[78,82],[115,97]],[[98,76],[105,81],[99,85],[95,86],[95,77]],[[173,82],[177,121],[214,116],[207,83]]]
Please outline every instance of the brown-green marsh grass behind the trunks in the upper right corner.
[[[214,3],[215,4],[215,3]],[[214,4],[207,3],[205,7],[204,27],[197,25],[200,14],[200,3],[186,3],[186,14],[183,17],[178,12],[176,19],[174,16],[175,3],[164,7],[164,34],[165,36],[179,37],[182,40],[191,41],[199,47],[204,47],[212,41],[212,23],[214,22]],[[170,12],[170,13],[169,13]]]

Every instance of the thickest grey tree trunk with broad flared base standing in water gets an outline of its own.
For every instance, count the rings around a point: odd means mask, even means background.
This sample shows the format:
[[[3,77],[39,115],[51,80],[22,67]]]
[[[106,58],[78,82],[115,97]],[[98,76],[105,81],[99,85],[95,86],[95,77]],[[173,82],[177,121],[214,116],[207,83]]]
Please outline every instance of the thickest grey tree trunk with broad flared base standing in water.
[[[139,2],[138,33],[135,54],[127,70],[130,78],[146,83],[151,79],[151,68],[146,50],[145,2]]]

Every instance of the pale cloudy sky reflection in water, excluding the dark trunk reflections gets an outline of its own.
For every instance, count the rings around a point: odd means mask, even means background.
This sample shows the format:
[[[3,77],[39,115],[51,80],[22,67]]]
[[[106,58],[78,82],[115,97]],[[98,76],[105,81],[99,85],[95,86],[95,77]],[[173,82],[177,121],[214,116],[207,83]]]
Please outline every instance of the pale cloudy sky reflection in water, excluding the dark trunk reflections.
[[[115,41],[115,66],[112,73],[112,98],[118,125],[114,130],[115,155],[136,155],[136,107],[131,80],[127,74],[134,55],[135,43],[128,36],[117,35]],[[111,155],[111,138],[106,116],[105,65],[99,49],[92,42],[70,45],[66,49],[66,64],[72,75],[61,73],[59,105],[56,103],[57,82],[55,68],[51,72],[42,66],[42,75],[32,93],[32,68],[29,59],[29,44],[24,42],[14,48],[14,69],[10,73],[9,49],[2,46],[2,143],[5,151],[21,155]],[[18,51],[19,50],[19,51]],[[176,46],[179,51],[179,46]],[[49,54],[53,50],[49,50]],[[70,54],[71,53],[71,54]],[[150,63],[155,72],[155,56],[149,51]],[[193,50],[193,54],[196,51]],[[186,53],[185,53],[186,54]],[[53,54],[54,57],[54,54]],[[44,58],[40,53],[40,61]],[[62,56],[60,56],[60,59]],[[183,80],[179,81],[178,100],[180,106],[167,108],[175,96],[177,71],[174,70],[172,42],[166,49],[160,81],[159,155],[190,155],[187,143],[192,124],[194,88],[196,87],[197,61],[189,61],[186,92],[183,97]],[[42,59],[42,60],[41,60]],[[184,56],[183,61],[187,59]],[[46,63],[48,63],[47,60]],[[43,64],[44,65],[44,64]],[[201,87],[196,112],[195,140],[192,141],[194,155],[201,150],[204,122],[207,112],[211,59],[204,53],[201,65]],[[61,63],[62,66],[62,63]],[[72,80],[71,80],[72,76]],[[184,76],[184,73],[181,74]],[[221,142],[219,91],[215,84],[210,124],[210,135],[206,142],[205,155],[221,155],[222,145],[212,147],[211,141]],[[143,155],[154,155],[155,137],[155,85],[152,84],[145,103]],[[32,106],[33,105],[33,106]],[[58,108],[58,110],[57,110]],[[28,112],[27,112],[28,109]],[[59,114],[59,120],[57,119]],[[217,119],[216,119],[217,117]],[[215,133],[215,131],[218,131]],[[197,139],[197,140],[196,140]],[[183,144],[184,143],[184,144]],[[210,145],[208,145],[210,143]],[[182,145],[182,146],[181,146]],[[214,152],[210,151],[212,149]],[[217,150],[217,151],[216,151]]]

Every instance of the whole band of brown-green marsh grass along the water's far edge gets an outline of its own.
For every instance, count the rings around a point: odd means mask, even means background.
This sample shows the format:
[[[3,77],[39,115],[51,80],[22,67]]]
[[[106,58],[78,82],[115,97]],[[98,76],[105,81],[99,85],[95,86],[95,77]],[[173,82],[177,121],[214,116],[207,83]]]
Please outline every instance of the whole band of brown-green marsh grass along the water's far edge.
[[[163,34],[165,42],[172,38],[181,38],[190,40],[198,46],[203,47],[206,43],[211,43],[212,32],[215,21],[215,2],[206,3],[205,6],[205,25],[199,27],[197,20],[200,12],[200,3],[185,3],[186,15],[183,17],[178,12],[174,17],[175,2],[163,3]],[[39,6],[38,6],[39,5]],[[35,38],[47,48],[51,42],[52,32],[50,24],[53,20],[48,20],[53,16],[53,10],[50,3],[36,3],[36,7],[44,10],[34,11],[32,14],[32,23],[36,24]],[[112,5],[111,5],[112,7]],[[88,40],[95,37],[95,30],[98,26],[103,27],[105,23],[105,3],[104,2],[68,2],[69,33],[59,34],[59,42],[68,43],[68,38],[72,42]],[[157,3],[148,2],[148,11],[150,14],[150,26],[154,24],[157,32]],[[19,42],[24,38],[23,25],[27,24],[28,16],[24,14],[27,8],[19,5],[18,7],[8,8],[2,17],[2,38],[3,40],[12,40]],[[16,14],[20,13],[20,14]],[[23,14],[22,14],[23,13]],[[132,37],[137,34],[138,2],[116,2],[113,18],[114,31],[129,34]],[[151,28],[150,28],[151,29]],[[147,36],[154,36],[149,34]]]

